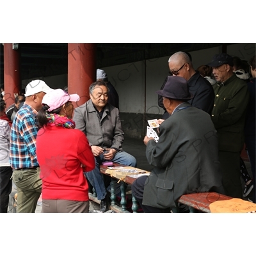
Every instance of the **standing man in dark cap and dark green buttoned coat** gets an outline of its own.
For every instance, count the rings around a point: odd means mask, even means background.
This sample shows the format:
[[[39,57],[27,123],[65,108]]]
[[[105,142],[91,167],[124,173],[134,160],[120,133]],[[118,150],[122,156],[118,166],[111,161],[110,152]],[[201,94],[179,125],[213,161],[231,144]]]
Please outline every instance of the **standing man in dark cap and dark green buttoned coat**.
[[[244,122],[249,100],[247,84],[233,73],[233,58],[216,54],[211,63],[217,83],[212,122],[218,133],[219,158],[225,195],[243,198],[240,154],[244,145]]]

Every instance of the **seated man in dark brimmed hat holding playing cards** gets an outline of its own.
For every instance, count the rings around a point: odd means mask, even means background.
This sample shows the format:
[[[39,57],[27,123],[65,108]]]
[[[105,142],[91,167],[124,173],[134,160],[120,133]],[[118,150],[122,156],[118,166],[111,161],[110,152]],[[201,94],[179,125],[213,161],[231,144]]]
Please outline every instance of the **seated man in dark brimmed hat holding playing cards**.
[[[223,193],[218,138],[211,116],[188,103],[193,95],[186,79],[169,76],[163,88],[164,108],[170,117],[159,127],[159,141],[145,136],[149,176],[132,184],[132,194],[144,212],[170,212],[180,196],[216,191]]]

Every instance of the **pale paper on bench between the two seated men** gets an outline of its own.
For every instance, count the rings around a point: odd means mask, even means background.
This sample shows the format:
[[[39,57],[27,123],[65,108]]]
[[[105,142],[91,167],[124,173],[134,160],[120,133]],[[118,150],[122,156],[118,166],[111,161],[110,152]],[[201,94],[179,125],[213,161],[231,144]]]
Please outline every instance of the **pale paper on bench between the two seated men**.
[[[108,173],[111,177],[115,177],[116,179],[124,180],[126,176],[131,176],[131,175],[138,175],[138,174],[150,174],[150,172],[147,172],[145,170],[141,170],[139,168],[135,168],[132,166],[125,166],[125,167],[120,167],[118,169],[107,169],[105,173]]]

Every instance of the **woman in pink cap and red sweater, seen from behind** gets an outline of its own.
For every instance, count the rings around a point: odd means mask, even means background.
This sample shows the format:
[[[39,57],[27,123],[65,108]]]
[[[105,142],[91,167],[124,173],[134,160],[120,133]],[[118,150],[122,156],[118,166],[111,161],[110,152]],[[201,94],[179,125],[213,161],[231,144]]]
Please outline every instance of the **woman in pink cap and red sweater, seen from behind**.
[[[83,132],[72,120],[77,94],[61,89],[46,93],[38,112],[42,128],[36,138],[36,156],[42,179],[42,213],[88,212],[88,183],[84,172],[95,160]]]

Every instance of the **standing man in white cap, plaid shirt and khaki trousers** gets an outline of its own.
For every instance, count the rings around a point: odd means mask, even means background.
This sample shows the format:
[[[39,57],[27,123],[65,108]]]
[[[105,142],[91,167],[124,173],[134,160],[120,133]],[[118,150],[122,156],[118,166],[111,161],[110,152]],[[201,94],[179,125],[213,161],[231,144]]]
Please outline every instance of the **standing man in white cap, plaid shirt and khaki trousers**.
[[[40,168],[36,157],[36,116],[42,108],[42,99],[51,88],[42,80],[33,80],[26,86],[26,100],[13,120],[10,134],[10,164],[13,182],[17,186],[17,212],[35,212],[42,190]]]

